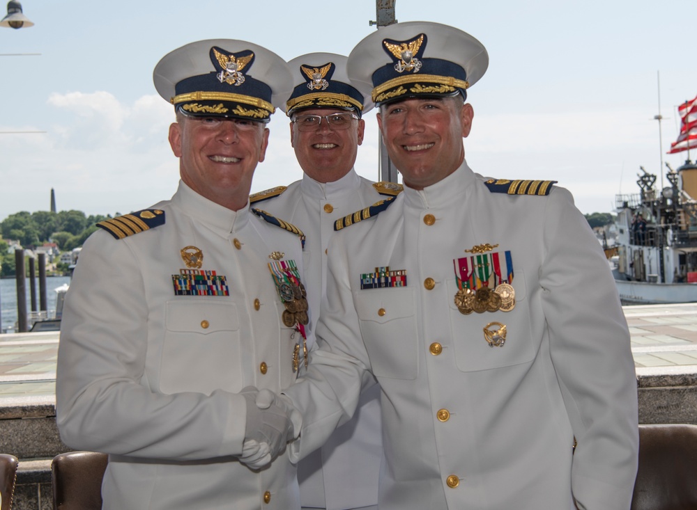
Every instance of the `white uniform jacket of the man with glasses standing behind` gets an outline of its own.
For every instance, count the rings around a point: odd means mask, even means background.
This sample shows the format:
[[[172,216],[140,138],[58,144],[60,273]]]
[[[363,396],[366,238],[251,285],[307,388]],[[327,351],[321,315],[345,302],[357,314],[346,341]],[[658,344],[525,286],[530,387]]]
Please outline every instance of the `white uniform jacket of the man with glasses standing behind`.
[[[326,184],[303,175],[281,195],[254,204],[290,221],[307,237],[303,266],[313,327],[325,296],[326,250],[335,221],[383,198],[372,182],[351,169]],[[351,422],[298,464],[302,507],[344,510],[376,505],[382,451],[380,388],[374,385],[361,395]]]

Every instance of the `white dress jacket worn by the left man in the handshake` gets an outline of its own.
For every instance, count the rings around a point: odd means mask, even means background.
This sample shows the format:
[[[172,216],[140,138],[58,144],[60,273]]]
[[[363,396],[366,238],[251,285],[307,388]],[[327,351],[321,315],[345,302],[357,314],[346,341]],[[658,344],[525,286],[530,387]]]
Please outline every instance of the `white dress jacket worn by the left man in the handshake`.
[[[105,509],[298,509],[287,455],[261,471],[236,456],[246,423],[238,392],[296,378],[299,335],[282,323],[268,255],[302,271],[300,239],[181,182],[154,208],[164,225],[120,240],[100,230],[80,253],[58,356],[61,438],[109,453]],[[175,295],[187,246],[203,253],[201,270],[227,278],[229,296]]]

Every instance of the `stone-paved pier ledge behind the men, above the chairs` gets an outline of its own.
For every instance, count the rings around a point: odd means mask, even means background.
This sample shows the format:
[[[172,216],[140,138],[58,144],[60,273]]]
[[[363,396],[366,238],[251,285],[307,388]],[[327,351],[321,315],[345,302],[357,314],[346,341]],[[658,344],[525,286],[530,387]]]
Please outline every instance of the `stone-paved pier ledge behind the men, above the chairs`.
[[[697,303],[624,308],[639,422],[697,424]],[[20,459],[16,510],[51,510],[59,332],[0,335],[0,452]]]

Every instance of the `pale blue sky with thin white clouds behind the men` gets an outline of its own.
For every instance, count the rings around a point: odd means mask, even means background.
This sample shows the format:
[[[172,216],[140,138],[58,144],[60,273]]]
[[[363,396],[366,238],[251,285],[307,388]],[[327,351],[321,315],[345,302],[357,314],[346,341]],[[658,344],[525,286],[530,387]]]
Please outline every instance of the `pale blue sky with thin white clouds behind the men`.
[[[348,55],[376,30],[374,0],[21,3],[35,25],[0,27],[0,221],[49,210],[51,189],[57,210],[88,215],[171,197],[174,109],[152,81],[169,51],[240,39],[289,61]],[[661,163],[677,168],[687,158],[665,152],[677,138],[678,104],[697,95],[689,38],[697,1],[396,0],[395,12],[399,22],[457,26],[487,47],[489,70],[468,91],[475,118],[465,150],[475,172],[557,180],[590,214],[613,212],[618,193],[637,193],[639,166],[667,186]],[[364,118],[355,168],[379,180],[374,111]],[[252,192],[302,176],[284,113],[268,127]]]

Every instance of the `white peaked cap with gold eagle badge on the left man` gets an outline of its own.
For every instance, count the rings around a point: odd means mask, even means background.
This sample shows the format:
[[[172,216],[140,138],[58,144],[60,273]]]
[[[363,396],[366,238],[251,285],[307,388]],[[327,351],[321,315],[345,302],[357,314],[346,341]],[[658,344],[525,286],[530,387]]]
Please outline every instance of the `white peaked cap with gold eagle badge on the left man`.
[[[198,117],[268,122],[293,88],[286,62],[252,42],[191,42],[162,57],[153,81],[177,111]]]

